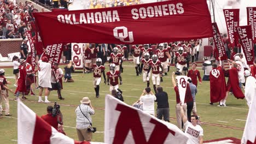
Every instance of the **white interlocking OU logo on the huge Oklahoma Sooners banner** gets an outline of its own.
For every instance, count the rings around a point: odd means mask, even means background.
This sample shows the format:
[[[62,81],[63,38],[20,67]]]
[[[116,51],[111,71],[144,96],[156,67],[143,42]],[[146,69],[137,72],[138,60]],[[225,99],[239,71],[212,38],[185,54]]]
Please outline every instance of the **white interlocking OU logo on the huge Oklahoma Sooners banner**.
[[[123,32],[118,33],[118,30],[122,30]],[[113,33],[114,33],[114,37],[119,39],[122,42],[125,43],[132,43],[134,41],[133,39],[133,33],[132,32],[128,32],[128,29],[126,27],[115,27],[113,29]],[[126,38],[129,38],[129,40],[124,40]]]

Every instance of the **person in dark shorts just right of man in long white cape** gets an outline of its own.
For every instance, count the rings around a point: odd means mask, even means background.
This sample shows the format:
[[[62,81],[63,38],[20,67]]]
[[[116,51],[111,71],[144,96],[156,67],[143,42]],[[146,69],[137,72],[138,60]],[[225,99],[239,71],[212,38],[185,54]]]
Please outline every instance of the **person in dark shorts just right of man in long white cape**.
[[[57,90],[58,98],[63,100],[61,97],[61,89],[62,89],[62,77],[63,71],[59,68],[59,63],[55,62],[53,65],[53,70],[51,72],[51,89],[50,91]]]

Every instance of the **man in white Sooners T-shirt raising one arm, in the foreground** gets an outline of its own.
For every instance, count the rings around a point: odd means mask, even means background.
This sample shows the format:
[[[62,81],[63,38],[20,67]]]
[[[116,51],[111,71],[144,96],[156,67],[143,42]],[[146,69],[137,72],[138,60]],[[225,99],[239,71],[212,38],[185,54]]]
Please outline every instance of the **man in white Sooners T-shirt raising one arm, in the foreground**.
[[[181,104],[181,103],[180,103]],[[185,135],[189,137],[187,144],[202,144],[203,143],[203,129],[200,125],[197,125],[198,117],[195,115],[191,116],[191,123],[184,115],[183,106],[181,104],[181,116],[185,127]]]

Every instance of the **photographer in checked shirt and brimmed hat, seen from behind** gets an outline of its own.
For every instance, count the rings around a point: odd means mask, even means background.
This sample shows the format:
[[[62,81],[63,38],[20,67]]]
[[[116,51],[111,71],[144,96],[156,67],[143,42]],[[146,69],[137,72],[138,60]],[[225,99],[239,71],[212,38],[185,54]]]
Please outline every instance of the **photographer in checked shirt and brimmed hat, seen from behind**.
[[[88,97],[84,97],[80,103],[75,109],[78,139],[79,141],[91,141],[92,133],[96,131],[96,128],[92,128],[91,121],[91,115],[94,115],[94,108],[91,106],[91,101]]]

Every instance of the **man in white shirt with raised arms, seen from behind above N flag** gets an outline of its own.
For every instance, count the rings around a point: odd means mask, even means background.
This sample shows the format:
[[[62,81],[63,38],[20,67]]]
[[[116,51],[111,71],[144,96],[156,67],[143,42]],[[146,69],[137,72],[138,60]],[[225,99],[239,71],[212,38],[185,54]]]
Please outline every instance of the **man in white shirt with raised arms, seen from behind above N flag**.
[[[155,100],[156,97],[150,87],[146,87],[140,98],[141,103],[143,103],[143,111],[149,115],[155,116]]]

